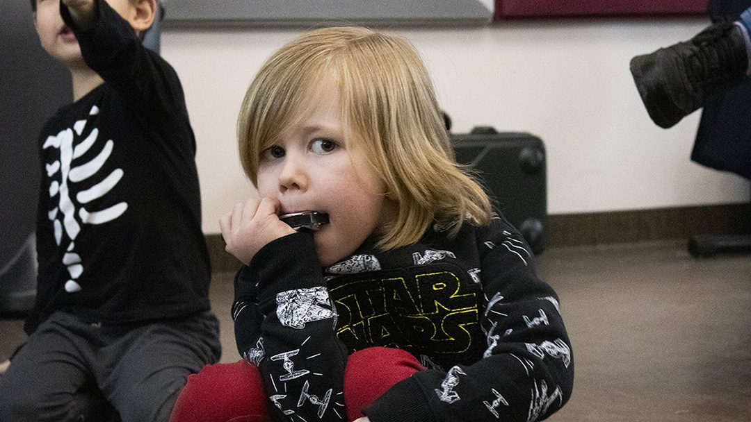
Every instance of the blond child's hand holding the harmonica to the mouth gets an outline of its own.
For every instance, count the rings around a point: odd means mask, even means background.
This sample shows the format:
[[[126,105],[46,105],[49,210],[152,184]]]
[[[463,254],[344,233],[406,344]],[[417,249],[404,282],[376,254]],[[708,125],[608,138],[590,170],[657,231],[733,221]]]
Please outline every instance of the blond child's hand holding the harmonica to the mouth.
[[[225,250],[248,265],[258,250],[270,241],[294,233],[294,229],[279,220],[279,201],[270,198],[249,198],[238,202],[234,209],[219,220]]]

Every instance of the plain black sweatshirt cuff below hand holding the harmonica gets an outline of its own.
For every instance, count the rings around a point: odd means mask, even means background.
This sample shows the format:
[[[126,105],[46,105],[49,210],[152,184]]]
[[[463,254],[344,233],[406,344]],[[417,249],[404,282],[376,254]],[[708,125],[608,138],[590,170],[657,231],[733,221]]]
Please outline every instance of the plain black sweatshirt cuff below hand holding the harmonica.
[[[297,232],[270,241],[253,256],[249,267],[258,274],[261,301],[288,290],[325,286],[311,233]]]

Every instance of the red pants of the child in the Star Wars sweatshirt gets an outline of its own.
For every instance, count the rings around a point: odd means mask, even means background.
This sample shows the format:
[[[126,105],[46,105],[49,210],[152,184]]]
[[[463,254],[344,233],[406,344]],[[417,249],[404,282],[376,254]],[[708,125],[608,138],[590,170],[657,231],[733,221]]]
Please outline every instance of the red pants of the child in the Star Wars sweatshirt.
[[[401,349],[372,347],[349,356],[344,403],[350,421],[392,385],[424,367]],[[170,422],[270,422],[269,400],[258,368],[237,361],[207,365],[188,377]]]

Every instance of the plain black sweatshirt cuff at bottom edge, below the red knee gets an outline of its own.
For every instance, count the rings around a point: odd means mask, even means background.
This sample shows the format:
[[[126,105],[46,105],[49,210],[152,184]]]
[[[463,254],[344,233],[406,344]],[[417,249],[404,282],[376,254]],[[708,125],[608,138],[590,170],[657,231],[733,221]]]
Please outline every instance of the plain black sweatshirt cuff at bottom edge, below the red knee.
[[[397,382],[372,405],[363,409],[370,422],[435,422],[436,418],[414,378]]]

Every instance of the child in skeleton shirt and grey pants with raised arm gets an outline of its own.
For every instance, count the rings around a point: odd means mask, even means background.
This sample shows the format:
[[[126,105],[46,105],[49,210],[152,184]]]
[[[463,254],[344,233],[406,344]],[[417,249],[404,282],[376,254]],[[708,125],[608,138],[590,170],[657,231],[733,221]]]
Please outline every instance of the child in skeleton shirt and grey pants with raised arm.
[[[73,102],[38,137],[38,291],[0,421],[167,421],[221,343],[182,85],[141,43],[158,4],[30,3]]]

